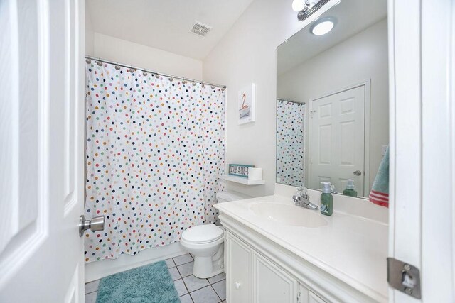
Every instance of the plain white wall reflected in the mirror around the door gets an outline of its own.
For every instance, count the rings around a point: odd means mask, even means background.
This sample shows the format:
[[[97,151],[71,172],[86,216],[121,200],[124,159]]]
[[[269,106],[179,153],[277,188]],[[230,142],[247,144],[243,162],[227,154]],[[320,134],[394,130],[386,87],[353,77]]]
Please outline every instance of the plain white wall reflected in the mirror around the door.
[[[306,102],[371,79],[370,187],[389,144],[387,18],[278,76],[277,97]],[[309,116],[310,106],[306,106]],[[309,119],[306,119],[308,129]],[[306,136],[308,146],[309,136]],[[309,167],[306,153],[306,167]],[[308,175],[306,174],[306,180]],[[367,193],[365,193],[367,194]]]

